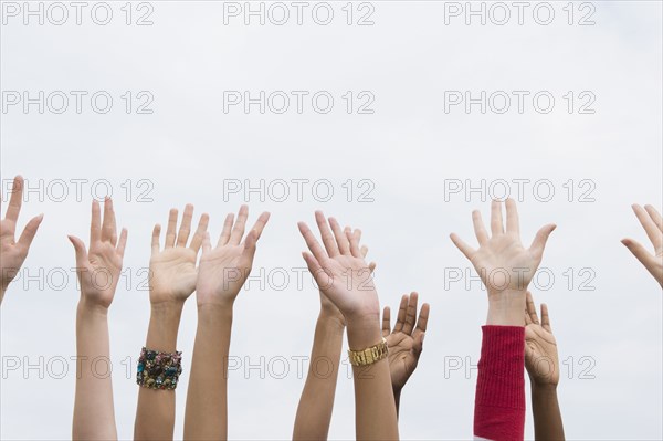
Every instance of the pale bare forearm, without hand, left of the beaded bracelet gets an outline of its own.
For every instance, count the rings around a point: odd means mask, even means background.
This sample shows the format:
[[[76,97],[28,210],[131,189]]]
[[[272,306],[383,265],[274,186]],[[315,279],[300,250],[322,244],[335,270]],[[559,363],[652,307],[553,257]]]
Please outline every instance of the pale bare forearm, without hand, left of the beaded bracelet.
[[[109,363],[108,316],[104,307],[83,301],[76,312],[76,393],[72,438],[116,440],[115,410]],[[104,360],[99,365],[98,360]],[[103,366],[102,375],[95,371]]]

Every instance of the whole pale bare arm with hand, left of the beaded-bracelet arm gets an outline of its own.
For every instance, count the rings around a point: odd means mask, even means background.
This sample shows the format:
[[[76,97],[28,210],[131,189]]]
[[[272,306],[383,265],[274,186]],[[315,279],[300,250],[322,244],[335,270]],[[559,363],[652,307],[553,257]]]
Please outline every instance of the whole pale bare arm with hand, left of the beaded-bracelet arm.
[[[81,301],[76,311],[76,396],[74,400],[74,440],[116,440],[113,384],[110,376],[94,371],[96,363],[109,363],[108,307],[115,290],[127,241],[127,230],[117,239],[113,202],[104,202],[104,220],[97,201],[92,203],[90,251],[78,238],[69,237],[76,251],[76,273]],[[99,282],[99,273],[107,282]]]

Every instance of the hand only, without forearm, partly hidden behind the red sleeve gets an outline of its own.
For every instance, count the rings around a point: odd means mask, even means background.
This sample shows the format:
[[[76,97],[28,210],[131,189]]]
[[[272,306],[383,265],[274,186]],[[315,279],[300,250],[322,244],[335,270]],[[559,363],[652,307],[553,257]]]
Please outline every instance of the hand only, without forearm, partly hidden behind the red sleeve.
[[[525,367],[529,379],[540,386],[557,386],[559,382],[559,356],[557,342],[550,328],[548,306],[545,303],[541,304],[541,321],[539,322],[529,292],[527,292],[525,324]]]

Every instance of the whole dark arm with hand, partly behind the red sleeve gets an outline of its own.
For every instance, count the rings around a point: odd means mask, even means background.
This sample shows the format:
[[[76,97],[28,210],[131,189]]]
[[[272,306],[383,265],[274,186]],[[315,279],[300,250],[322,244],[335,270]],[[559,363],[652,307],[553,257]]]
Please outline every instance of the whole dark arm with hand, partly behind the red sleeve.
[[[557,342],[550,327],[548,306],[541,304],[541,322],[536,314],[532,294],[527,293],[525,312],[525,367],[532,386],[532,413],[534,414],[534,439],[564,440],[564,423],[557,385],[559,384],[559,356]]]

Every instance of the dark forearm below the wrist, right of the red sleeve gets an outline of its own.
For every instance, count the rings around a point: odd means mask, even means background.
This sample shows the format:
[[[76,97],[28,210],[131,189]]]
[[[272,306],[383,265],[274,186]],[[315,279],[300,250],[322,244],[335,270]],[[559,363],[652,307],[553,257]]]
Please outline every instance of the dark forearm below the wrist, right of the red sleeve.
[[[532,413],[536,441],[565,439],[556,386],[532,382]]]

